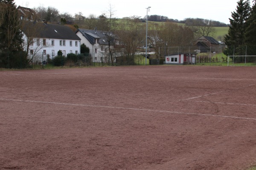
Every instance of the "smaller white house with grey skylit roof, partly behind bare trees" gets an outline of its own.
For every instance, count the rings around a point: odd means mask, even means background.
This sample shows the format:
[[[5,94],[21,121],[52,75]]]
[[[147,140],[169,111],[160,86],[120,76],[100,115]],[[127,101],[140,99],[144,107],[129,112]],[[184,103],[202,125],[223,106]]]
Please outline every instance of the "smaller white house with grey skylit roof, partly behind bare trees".
[[[119,43],[112,33],[106,31],[77,29],[76,35],[81,38],[81,44],[85,44],[90,49],[90,55],[93,57],[93,62],[109,62],[110,41],[111,50]]]

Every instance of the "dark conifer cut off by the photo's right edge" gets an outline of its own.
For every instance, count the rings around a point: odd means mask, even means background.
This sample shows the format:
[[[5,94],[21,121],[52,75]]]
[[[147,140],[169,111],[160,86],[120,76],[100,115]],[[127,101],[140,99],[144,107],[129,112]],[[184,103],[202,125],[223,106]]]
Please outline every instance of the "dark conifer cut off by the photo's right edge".
[[[247,20],[247,25],[245,30],[247,55],[256,55],[256,1],[254,1],[250,16]]]

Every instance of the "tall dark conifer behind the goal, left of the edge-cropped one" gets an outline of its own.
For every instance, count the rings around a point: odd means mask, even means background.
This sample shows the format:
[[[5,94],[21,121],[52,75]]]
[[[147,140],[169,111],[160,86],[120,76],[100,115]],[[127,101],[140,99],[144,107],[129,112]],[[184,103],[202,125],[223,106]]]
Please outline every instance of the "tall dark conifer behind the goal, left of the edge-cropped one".
[[[245,55],[245,30],[250,10],[249,0],[239,0],[237,2],[236,11],[231,13],[232,19],[229,18],[228,34],[224,37],[224,42],[227,45],[224,54],[233,55],[235,50],[235,55]]]

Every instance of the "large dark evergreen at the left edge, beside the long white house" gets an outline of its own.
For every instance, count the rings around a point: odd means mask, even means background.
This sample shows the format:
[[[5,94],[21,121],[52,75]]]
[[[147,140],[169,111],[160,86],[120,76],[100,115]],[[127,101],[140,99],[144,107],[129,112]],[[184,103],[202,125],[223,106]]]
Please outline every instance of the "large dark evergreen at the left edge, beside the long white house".
[[[24,67],[23,60],[26,57],[21,56],[23,40],[16,5],[14,0],[0,0],[0,5],[5,7],[0,11],[3,14],[0,25],[0,67]],[[20,64],[15,64],[17,60]]]

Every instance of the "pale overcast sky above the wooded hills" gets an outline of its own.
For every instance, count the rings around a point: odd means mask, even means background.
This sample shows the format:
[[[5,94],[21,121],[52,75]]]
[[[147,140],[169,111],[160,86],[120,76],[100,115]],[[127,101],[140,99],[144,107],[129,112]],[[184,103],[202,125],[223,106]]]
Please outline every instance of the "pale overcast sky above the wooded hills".
[[[81,12],[87,17],[90,14],[99,16],[111,9],[114,17],[145,17],[148,15],[166,16],[170,19],[203,18],[229,24],[231,12],[236,11],[238,0],[14,0],[17,6],[34,8],[38,6],[54,7],[59,13],[74,15]],[[251,5],[253,0],[249,0]]]

